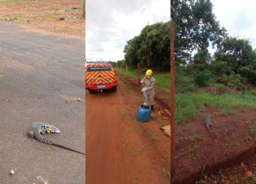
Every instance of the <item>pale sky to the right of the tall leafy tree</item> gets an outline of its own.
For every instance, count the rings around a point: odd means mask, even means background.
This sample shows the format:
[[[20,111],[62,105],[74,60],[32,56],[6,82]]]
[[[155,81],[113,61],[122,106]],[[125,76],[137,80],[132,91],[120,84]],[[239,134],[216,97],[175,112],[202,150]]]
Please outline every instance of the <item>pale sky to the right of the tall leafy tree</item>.
[[[230,36],[249,39],[254,50],[256,48],[256,1],[211,0],[211,2],[220,27],[224,26]],[[211,54],[215,52],[211,47],[208,50]]]

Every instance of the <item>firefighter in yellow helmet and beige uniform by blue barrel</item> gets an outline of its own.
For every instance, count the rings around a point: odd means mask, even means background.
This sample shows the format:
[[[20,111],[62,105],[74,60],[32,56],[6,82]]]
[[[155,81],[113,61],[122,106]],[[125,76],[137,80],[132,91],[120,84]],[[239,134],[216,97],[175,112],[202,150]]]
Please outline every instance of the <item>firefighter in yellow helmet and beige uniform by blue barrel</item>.
[[[151,103],[151,112],[154,113],[154,85],[156,84],[156,79],[152,77],[151,69],[146,71],[146,76],[142,79],[142,84],[144,84],[144,88],[142,88],[142,92],[145,91],[146,105],[149,105],[149,99]]]

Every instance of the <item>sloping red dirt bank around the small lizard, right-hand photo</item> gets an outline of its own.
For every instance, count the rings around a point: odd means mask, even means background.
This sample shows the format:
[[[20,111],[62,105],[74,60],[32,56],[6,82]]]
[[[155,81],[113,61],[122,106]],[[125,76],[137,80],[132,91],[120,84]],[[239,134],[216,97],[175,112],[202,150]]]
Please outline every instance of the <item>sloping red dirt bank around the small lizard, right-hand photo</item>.
[[[255,136],[249,132],[249,127],[256,122],[256,110],[236,110],[235,115],[221,116],[222,110],[205,108],[206,112],[197,120],[186,123],[186,126],[176,125],[176,172],[171,183],[183,183],[185,180],[195,183],[191,176],[201,174],[203,166],[206,166],[206,172],[213,171],[210,169],[213,166],[220,168],[225,161],[256,146]],[[206,115],[211,117],[213,126],[210,131],[215,142],[206,125],[202,125]],[[250,138],[246,141],[247,136]]]

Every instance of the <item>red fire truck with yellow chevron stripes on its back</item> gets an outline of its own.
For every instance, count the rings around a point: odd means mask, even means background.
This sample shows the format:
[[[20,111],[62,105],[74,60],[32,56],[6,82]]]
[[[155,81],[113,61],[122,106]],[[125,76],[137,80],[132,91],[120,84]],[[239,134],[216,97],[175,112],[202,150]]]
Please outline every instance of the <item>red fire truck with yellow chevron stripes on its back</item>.
[[[90,94],[105,89],[117,91],[117,74],[110,62],[85,62],[85,89]]]

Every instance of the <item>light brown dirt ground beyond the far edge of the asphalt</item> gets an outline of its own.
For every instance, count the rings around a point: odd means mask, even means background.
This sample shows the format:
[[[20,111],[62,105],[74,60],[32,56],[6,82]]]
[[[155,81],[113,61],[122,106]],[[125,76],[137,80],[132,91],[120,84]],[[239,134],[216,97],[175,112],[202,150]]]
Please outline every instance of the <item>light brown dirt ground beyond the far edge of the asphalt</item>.
[[[82,0],[0,1],[0,4],[0,21],[21,25],[37,33],[85,40]],[[60,20],[68,17],[71,19]]]

